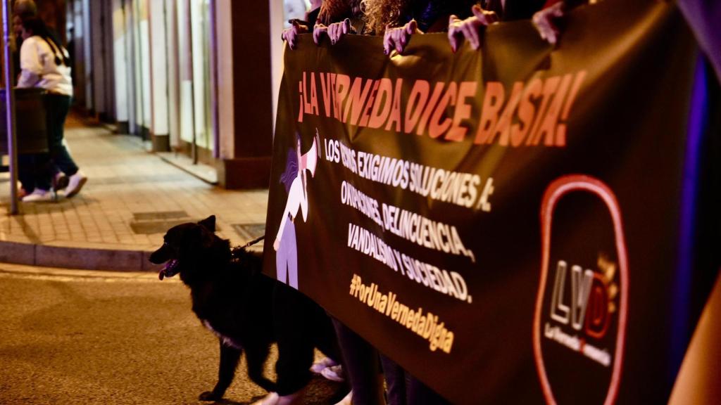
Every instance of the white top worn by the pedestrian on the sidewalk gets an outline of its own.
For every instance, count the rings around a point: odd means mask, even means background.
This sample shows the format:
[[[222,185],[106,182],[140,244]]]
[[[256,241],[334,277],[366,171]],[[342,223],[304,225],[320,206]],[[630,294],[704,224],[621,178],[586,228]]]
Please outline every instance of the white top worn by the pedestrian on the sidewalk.
[[[60,48],[66,56],[68,50]],[[61,55],[57,55],[58,57]],[[22,41],[20,47],[20,79],[18,87],[40,87],[48,92],[73,95],[73,80],[70,66],[55,63],[56,54],[42,37],[33,35]]]

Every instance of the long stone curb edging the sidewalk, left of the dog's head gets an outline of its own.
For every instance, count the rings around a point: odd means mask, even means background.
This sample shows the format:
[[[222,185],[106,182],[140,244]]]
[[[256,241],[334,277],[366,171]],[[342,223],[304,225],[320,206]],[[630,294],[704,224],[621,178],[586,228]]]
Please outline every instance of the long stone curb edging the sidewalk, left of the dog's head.
[[[151,252],[136,249],[97,249],[77,246],[0,241],[0,262],[41,267],[120,272],[156,272]]]

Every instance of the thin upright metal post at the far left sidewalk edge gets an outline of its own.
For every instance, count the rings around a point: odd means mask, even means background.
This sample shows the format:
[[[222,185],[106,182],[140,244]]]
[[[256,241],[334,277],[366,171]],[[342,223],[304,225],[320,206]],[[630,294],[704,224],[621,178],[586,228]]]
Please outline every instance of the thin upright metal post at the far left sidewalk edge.
[[[15,137],[15,97],[12,89],[13,66],[10,48],[10,0],[2,0],[2,27],[5,43],[5,112],[7,121],[7,151],[10,166],[10,215],[17,215],[17,143]]]

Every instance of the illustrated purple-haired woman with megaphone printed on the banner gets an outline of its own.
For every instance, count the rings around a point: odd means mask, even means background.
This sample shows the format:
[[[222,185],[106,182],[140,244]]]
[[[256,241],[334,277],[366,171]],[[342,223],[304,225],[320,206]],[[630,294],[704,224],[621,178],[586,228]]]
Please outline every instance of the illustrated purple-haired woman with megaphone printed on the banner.
[[[288,200],[283,218],[280,220],[278,236],[275,236],[273,249],[275,249],[275,271],[278,281],[298,289],[298,248],[296,246],[295,222],[298,210],[301,211],[303,222],[308,218],[308,177],[306,170],[315,176],[318,162],[318,135],[313,138],[310,150],[301,153],[301,138],[296,133],[295,151],[288,150],[286,171],[280,176],[280,182],[286,186]],[[289,223],[290,222],[290,223]]]

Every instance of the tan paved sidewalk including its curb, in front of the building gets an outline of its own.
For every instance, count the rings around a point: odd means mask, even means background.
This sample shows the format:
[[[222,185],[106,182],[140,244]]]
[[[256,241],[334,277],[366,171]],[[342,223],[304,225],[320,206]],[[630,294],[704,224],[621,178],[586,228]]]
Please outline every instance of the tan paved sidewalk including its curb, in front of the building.
[[[216,215],[218,236],[232,245],[264,233],[267,190],[223,190],[149,153],[138,138],[78,117],[68,117],[65,138],[89,178],[79,195],[20,203],[21,214],[9,215],[9,174],[0,173],[0,262],[157,270],[149,252],[178,223]]]

